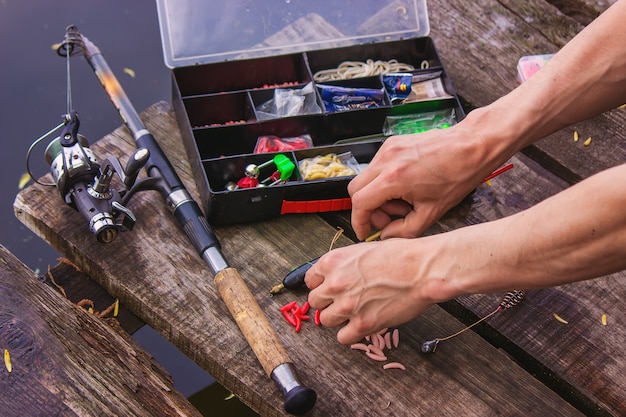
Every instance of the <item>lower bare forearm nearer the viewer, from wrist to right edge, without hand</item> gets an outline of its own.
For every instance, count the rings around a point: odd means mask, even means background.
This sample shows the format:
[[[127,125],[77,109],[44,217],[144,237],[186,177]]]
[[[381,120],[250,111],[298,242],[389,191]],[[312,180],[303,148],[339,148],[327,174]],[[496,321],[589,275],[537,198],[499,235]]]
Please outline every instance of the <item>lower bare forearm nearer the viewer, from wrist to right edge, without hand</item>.
[[[543,288],[626,269],[626,164],[519,214],[458,230],[449,296]],[[444,290],[442,288],[444,292]]]

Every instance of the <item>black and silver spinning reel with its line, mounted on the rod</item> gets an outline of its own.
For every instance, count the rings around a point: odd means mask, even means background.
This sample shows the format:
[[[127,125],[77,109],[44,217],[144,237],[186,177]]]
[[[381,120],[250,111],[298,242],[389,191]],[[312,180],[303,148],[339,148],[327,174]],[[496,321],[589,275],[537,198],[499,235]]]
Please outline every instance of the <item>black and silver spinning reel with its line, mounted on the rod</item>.
[[[78,46],[79,48],[76,48]],[[54,129],[33,142],[26,157],[26,168],[33,180],[41,185],[56,186],[65,204],[74,208],[88,221],[89,229],[99,242],[112,242],[121,230],[132,230],[136,217],[128,209],[128,201],[140,190],[158,189],[157,178],[137,181],[139,171],[146,165],[150,152],[146,148],[137,149],[125,167],[110,156],[102,164],[98,163],[87,139],[78,133],[80,120],[72,109],[70,56],[84,48],[83,38],[72,26],[68,27],[65,39],[57,49],[60,56],[67,59],[67,113],[63,121]],[[61,129],[45,150],[45,161],[50,166],[53,183],[42,183],[30,171],[29,161],[33,148],[43,139]],[[112,188],[117,174],[123,186]]]

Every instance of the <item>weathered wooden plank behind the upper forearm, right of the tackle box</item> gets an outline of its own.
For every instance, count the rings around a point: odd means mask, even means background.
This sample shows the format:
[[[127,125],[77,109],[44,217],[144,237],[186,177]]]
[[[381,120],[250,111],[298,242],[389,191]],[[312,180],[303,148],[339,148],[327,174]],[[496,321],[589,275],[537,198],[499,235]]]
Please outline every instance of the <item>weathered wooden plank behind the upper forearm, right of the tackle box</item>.
[[[608,7],[607,3],[598,7]],[[582,29],[542,0],[430,0],[428,6],[431,37],[470,108],[489,104],[517,86],[519,58],[556,52]],[[591,136],[591,146],[574,143],[574,129],[583,139]],[[626,110],[577,123],[542,139],[528,152],[569,182],[623,163]]]

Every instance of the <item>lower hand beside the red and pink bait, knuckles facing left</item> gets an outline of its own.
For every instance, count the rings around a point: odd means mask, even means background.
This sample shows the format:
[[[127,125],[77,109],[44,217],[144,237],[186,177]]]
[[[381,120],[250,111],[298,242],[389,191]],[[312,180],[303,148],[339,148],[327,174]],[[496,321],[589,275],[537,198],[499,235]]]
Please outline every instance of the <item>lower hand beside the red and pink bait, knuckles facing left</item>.
[[[425,296],[417,239],[388,239],[334,249],[306,274],[309,303],[324,326],[344,325],[337,340],[350,344],[405,323],[439,300]],[[419,243],[419,242],[417,242]]]

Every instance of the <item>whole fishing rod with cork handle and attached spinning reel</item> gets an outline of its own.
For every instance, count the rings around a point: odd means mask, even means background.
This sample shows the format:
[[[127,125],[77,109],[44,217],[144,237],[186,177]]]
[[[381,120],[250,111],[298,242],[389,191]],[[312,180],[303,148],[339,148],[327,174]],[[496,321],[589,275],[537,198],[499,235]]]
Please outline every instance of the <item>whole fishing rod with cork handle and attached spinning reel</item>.
[[[200,207],[142,123],[100,50],[71,25],[67,27],[57,52],[68,60],[68,114],[64,116],[61,136],[46,149],[46,161],[51,164],[56,186],[65,202],[89,220],[99,241],[108,243],[115,239],[118,230],[132,228],[135,217],[125,207],[132,195],[138,191],[157,190],[213,271],[214,283],[222,299],[266,374],[282,390],[285,411],[295,415],[308,412],[315,405],[317,394],[299,381],[292,360],[263,310],[239,272],[229,266]],[[69,57],[81,52],[135,139],[137,151],[125,168],[115,157],[98,165],[86,141],[78,134],[78,115],[70,108]],[[145,168],[147,178],[137,181],[142,168]],[[110,189],[115,173],[121,178],[124,190]]]

